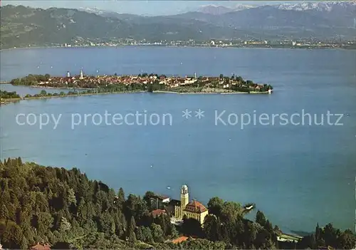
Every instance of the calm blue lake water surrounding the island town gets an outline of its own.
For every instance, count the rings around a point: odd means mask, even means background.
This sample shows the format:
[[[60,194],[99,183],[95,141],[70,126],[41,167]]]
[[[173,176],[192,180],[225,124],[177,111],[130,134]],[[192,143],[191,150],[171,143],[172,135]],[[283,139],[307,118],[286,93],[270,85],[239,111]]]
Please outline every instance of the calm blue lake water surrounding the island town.
[[[187,184],[191,198],[204,203],[214,196],[254,202],[273,224],[286,230],[312,231],[317,222],[354,229],[356,51],[158,47],[1,51],[1,80],[28,73],[66,75],[70,71],[73,75],[80,68],[85,74],[235,73],[270,83],[275,92],[23,100],[0,108],[2,159],[21,156],[41,165],[75,166],[110,187],[141,195],[152,190],[177,199],[179,187]],[[41,91],[11,85],[1,89],[21,95]],[[182,117],[186,109],[192,111],[192,118]],[[199,109],[204,118],[194,116]],[[82,119],[95,113],[104,117],[105,110],[122,115],[170,114],[172,125],[84,125],[82,121],[71,128],[74,113]],[[266,113],[271,118],[304,110],[317,115],[318,123],[324,114],[324,125],[281,125],[278,118],[274,125],[271,120],[270,125],[252,122],[243,129],[241,123],[224,125],[218,120],[216,125],[215,112],[224,110],[225,123],[231,113],[251,118]],[[342,125],[328,125],[328,110],[343,114]],[[40,130],[37,124],[18,125],[20,113],[34,113],[37,118],[41,113],[62,116],[55,130],[53,122]],[[231,115],[231,123],[234,118]],[[330,118],[330,123],[336,120]]]

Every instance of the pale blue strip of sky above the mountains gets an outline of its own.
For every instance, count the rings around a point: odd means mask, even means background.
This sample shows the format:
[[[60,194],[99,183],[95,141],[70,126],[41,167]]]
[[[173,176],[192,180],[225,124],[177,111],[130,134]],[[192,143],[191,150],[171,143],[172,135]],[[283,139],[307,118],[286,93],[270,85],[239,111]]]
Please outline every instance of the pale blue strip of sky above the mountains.
[[[267,5],[267,4],[282,4],[282,3],[297,3],[301,1],[154,1],[154,0],[141,0],[141,1],[120,1],[120,0],[1,0],[2,6],[6,4],[24,5],[35,8],[48,9],[51,7],[58,8],[96,8],[105,11],[115,11],[126,14],[138,14],[145,16],[160,16],[184,13],[187,11],[194,11],[204,5],[219,5],[219,6],[236,6],[237,4],[244,5]]]

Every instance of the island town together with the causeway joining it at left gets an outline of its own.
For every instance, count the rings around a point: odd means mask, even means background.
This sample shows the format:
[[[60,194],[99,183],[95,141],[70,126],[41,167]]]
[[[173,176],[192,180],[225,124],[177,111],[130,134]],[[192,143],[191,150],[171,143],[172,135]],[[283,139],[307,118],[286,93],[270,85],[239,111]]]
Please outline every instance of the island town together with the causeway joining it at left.
[[[12,85],[26,85],[42,88],[35,95],[20,96],[16,92],[0,90],[1,104],[11,103],[24,99],[55,98],[68,95],[97,95],[105,93],[250,93],[271,94],[273,87],[270,84],[253,83],[244,80],[241,76],[232,74],[225,76],[197,76],[194,75],[158,75],[140,73],[138,75],[85,75],[80,70],[79,75],[71,75],[68,71],[65,76],[32,75],[15,78],[9,83]],[[46,88],[56,88],[60,93],[46,92]],[[69,90],[67,92],[61,89]]]

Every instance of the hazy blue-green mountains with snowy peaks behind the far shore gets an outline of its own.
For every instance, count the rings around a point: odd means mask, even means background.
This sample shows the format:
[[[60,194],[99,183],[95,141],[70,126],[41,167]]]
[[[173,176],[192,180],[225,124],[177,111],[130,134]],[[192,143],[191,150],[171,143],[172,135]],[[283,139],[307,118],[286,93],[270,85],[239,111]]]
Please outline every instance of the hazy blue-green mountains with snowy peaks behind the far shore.
[[[189,39],[356,40],[356,1],[273,6],[201,6],[172,16],[139,16],[98,9],[2,6],[1,48],[73,41]]]

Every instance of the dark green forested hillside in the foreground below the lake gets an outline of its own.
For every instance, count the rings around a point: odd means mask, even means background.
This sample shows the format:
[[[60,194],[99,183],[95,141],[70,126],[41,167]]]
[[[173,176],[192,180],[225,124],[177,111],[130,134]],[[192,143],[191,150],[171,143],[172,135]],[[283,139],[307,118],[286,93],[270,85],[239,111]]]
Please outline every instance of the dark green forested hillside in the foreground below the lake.
[[[36,242],[52,249],[351,249],[355,244],[352,231],[331,224],[317,226],[298,244],[278,244],[281,231],[262,212],[252,222],[244,219],[239,203],[218,197],[209,201],[203,227],[184,219],[176,228],[169,214],[152,217],[152,192],[126,197],[123,189],[115,192],[76,168],[43,167],[21,158],[0,162],[0,187],[0,242],[9,249],[28,249]],[[195,239],[172,244],[179,234]]]

